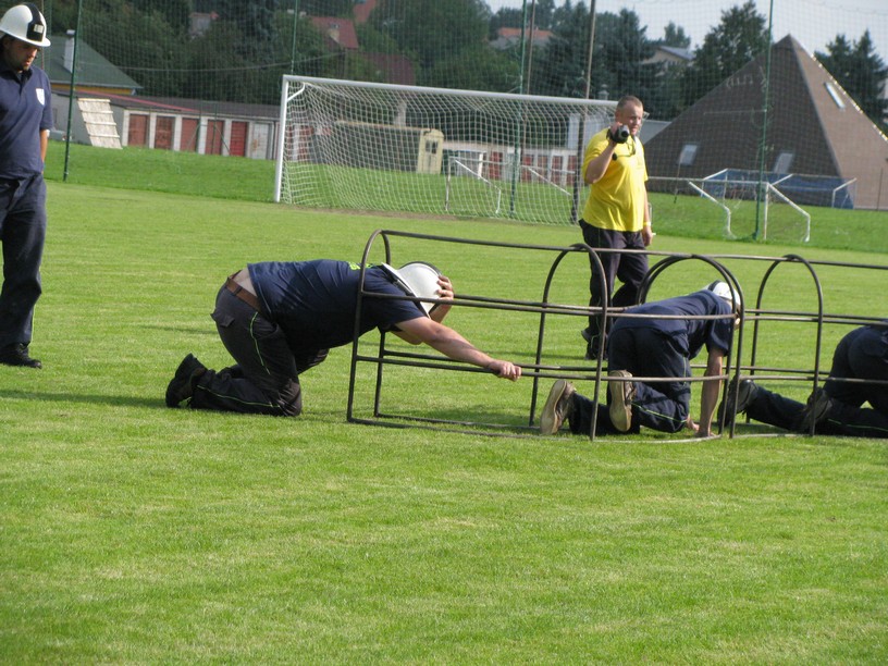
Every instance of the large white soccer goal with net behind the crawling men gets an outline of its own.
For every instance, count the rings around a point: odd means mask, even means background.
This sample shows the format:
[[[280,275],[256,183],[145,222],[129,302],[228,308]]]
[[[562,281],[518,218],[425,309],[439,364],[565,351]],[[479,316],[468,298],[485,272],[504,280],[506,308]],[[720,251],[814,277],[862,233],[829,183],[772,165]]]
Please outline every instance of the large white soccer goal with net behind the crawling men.
[[[274,200],[569,224],[616,102],[284,76]]]

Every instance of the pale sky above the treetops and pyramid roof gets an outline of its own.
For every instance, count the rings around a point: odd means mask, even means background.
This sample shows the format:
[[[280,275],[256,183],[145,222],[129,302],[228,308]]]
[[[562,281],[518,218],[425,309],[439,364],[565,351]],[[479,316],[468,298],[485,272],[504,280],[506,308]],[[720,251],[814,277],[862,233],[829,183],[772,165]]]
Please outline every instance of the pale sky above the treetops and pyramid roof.
[[[499,8],[521,9],[531,0],[486,0],[495,13]],[[591,0],[571,0],[574,4]],[[706,34],[721,22],[723,12],[740,7],[745,0],[595,0],[595,12],[618,13],[621,9],[633,10],[641,25],[648,26],[648,38],[663,37],[663,29],[671,21],[684,28],[691,38],[691,47],[698,47]],[[555,0],[560,7],[564,0]],[[755,0],[757,12],[768,17],[767,0]],[[849,42],[861,38],[869,29],[875,51],[888,63],[888,0],[774,0],[772,34],[779,41],[791,34],[812,54],[826,51],[826,46],[843,34]]]

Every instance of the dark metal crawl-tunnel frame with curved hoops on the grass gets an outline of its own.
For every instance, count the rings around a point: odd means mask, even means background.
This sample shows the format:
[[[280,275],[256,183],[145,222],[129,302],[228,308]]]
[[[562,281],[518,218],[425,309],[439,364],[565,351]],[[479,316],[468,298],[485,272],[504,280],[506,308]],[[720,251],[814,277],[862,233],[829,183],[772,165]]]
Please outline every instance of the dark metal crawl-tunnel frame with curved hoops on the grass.
[[[639,293],[639,301],[644,303],[648,298],[650,289],[652,285],[671,268],[675,267],[683,261],[694,260],[694,261],[702,261],[716,270],[716,272],[721,276],[721,279],[730,284],[736,292],[740,295],[740,303],[739,310],[743,312],[743,318],[741,318],[740,324],[738,326],[738,333],[736,335],[736,342],[731,341],[731,349],[728,351],[728,359],[726,371],[719,378],[705,378],[705,377],[690,377],[690,378],[668,378],[668,379],[678,379],[680,381],[690,381],[690,382],[698,382],[698,381],[712,381],[714,379],[731,379],[731,374],[735,375],[735,379],[738,380],[736,387],[739,387],[739,380],[742,377],[749,378],[760,378],[760,379],[795,379],[797,381],[813,381],[813,387],[816,388],[821,382],[821,363],[819,357],[822,353],[822,343],[823,343],[823,326],[825,323],[828,324],[865,324],[865,323],[875,323],[881,321],[881,318],[876,317],[866,317],[866,316],[859,316],[859,314],[839,314],[839,313],[826,313],[824,312],[824,296],[823,296],[823,287],[821,283],[821,279],[817,275],[815,267],[838,267],[838,268],[852,268],[852,269],[865,269],[865,270],[880,270],[880,271],[888,271],[888,266],[879,266],[879,264],[858,264],[858,263],[850,263],[850,262],[839,262],[839,261],[817,261],[817,260],[807,260],[798,255],[786,255],[784,257],[767,257],[767,256],[752,256],[752,255],[694,255],[694,254],[687,254],[687,252],[665,252],[665,251],[649,251],[649,250],[617,250],[610,248],[592,248],[585,244],[576,244],[569,247],[562,247],[562,246],[552,246],[552,245],[531,245],[531,244],[521,244],[521,243],[505,243],[505,242],[495,242],[495,240],[474,240],[474,239],[467,239],[467,238],[453,238],[446,236],[437,236],[431,234],[418,234],[411,232],[402,232],[402,231],[391,231],[391,230],[377,230],[373,232],[368,239],[363,256],[361,260],[361,280],[360,280],[360,289],[358,294],[358,304],[356,308],[356,321],[355,321],[355,329],[354,329],[354,336],[353,336],[353,350],[351,350],[351,367],[350,367],[350,379],[349,379],[349,390],[348,390],[348,407],[347,407],[347,418],[350,422],[360,422],[360,423],[371,423],[371,424],[386,424],[393,427],[403,427],[403,425],[394,425],[392,423],[379,423],[374,420],[368,420],[365,418],[358,418],[355,416],[355,388],[356,388],[356,377],[357,377],[357,363],[358,362],[372,362],[377,366],[377,383],[375,383],[375,391],[373,397],[373,417],[374,419],[381,418],[398,418],[402,420],[410,420],[410,421],[427,421],[431,423],[455,423],[452,421],[446,421],[444,419],[422,419],[412,416],[392,416],[383,414],[380,409],[380,400],[382,394],[382,381],[383,381],[383,366],[385,365],[405,365],[405,366],[415,366],[415,367],[423,367],[423,368],[435,368],[435,369],[445,369],[445,370],[455,370],[455,371],[462,371],[462,372],[488,372],[484,369],[477,368],[474,366],[470,366],[467,363],[459,363],[458,361],[452,361],[451,359],[446,359],[445,357],[441,356],[423,356],[419,354],[406,354],[399,350],[388,350],[385,347],[386,335],[382,333],[380,336],[379,342],[379,353],[377,356],[367,356],[359,353],[358,349],[358,337],[359,337],[359,323],[360,323],[360,314],[362,310],[362,299],[367,296],[372,296],[374,298],[403,298],[407,300],[414,301],[435,301],[436,299],[418,299],[412,298],[410,296],[385,296],[379,294],[369,294],[363,289],[363,279],[366,274],[366,269],[368,266],[368,258],[371,254],[373,246],[379,243],[380,240],[384,245],[384,256],[385,261],[391,263],[392,257],[392,239],[395,237],[406,237],[406,238],[415,238],[415,239],[424,239],[430,242],[443,242],[443,243],[452,243],[452,244],[464,244],[464,245],[476,245],[476,246],[490,246],[490,247],[502,247],[502,248],[511,248],[511,249],[527,249],[527,250],[538,250],[538,251],[548,251],[555,252],[555,259],[553,260],[545,280],[545,284],[543,286],[543,294],[541,301],[532,301],[532,300],[517,300],[517,299],[504,299],[504,298],[490,298],[484,296],[473,296],[467,294],[459,294],[454,297],[454,301],[452,305],[458,305],[460,307],[473,307],[473,308],[486,308],[486,309],[495,309],[495,310],[504,310],[504,311],[517,311],[517,312],[535,312],[540,314],[540,324],[538,330],[538,341],[535,347],[535,356],[533,363],[522,363],[523,374],[528,378],[533,379],[533,388],[531,395],[531,404],[530,410],[528,416],[528,424],[520,427],[520,425],[497,425],[493,423],[469,423],[469,422],[458,422],[460,425],[478,425],[484,428],[501,428],[501,429],[520,429],[520,430],[529,430],[529,431],[536,431],[533,423],[535,420],[535,410],[538,405],[538,391],[539,391],[539,380],[543,378],[569,378],[569,379],[577,379],[582,381],[594,381],[594,396],[595,396],[595,405],[597,407],[597,396],[600,394],[600,388],[603,382],[610,381],[609,378],[602,377],[602,367],[604,363],[604,345],[605,341],[600,341],[600,347],[597,349],[597,358],[595,359],[594,367],[590,367],[588,365],[546,365],[543,363],[543,355],[544,355],[544,341],[546,334],[546,323],[547,318],[551,316],[569,316],[569,317],[578,317],[584,316],[589,317],[592,314],[597,314],[603,318],[603,323],[607,323],[607,321],[612,318],[618,317],[652,317],[652,318],[659,318],[663,319],[663,316],[650,316],[650,314],[639,314],[639,313],[630,313],[626,312],[625,308],[612,308],[609,304],[609,298],[605,298],[605,303],[602,307],[592,307],[592,306],[576,306],[570,304],[558,304],[558,303],[551,303],[551,293],[552,287],[555,281],[555,275],[557,271],[562,267],[564,259],[574,252],[584,252],[589,257],[591,257],[590,261],[596,263],[599,268],[599,275],[600,275],[600,286],[602,288],[602,293],[606,293],[603,283],[603,270],[600,254],[604,252],[621,252],[621,254],[646,254],[652,257],[662,257],[662,260],[654,264],[650,270],[648,275],[645,276],[641,291]],[[757,294],[755,298],[755,308],[748,308],[745,305],[745,297],[743,295],[743,289],[741,288],[739,281],[736,279],[733,273],[726,268],[724,261],[726,260],[740,260],[740,261],[766,261],[770,266],[767,268],[765,275],[760,282]],[[784,310],[766,310],[763,307],[764,294],[766,289],[770,286],[770,280],[775,274],[775,271],[778,267],[782,266],[784,263],[801,263],[803,264],[809,273],[812,276],[814,285],[817,292],[817,311],[816,312],[803,312],[803,311],[784,311]],[[701,319],[716,319],[720,318],[721,316],[706,316],[701,317]],[[752,320],[753,321],[753,342],[752,342],[752,350],[749,363],[742,363],[742,351],[744,345],[744,321]],[[756,365],[756,356],[758,351],[758,326],[764,321],[795,321],[795,322],[813,322],[816,323],[816,342],[815,342],[815,358],[814,358],[814,369],[806,370],[806,369],[795,369],[795,368],[769,368],[765,366]],[[733,360],[736,359],[736,360]],[[692,366],[695,368],[696,366]],[[748,372],[749,374],[742,374]],[[791,377],[789,377],[791,375]],[[662,380],[663,378],[640,378],[640,380],[650,380],[656,381]],[[840,380],[837,380],[840,381]],[[860,381],[862,383],[867,383],[864,380],[843,380],[843,381]],[[872,383],[876,384],[888,384],[888,382],[878,382],[874,381]],[[723,409],[719,415],[720,423],[725,422],[725,414],[724,409],[727,405],[727,391],[729,384],[726,384],[725,390],[723,391]],[[738,393],[735,393],[735,404],[736,398],[738,397]],[[597,415],[597,409],[594,411],[595,416]],[[736,416],[736,415],[735,415]],[[593,417],[595,418],[595,417]],[[733,423],[730,428],[730,436],[735,437],[735,424],[736,418],[732,420]],[[590,439],[595,439],[595,422],[593,421],[591,432],[589,433]],[[813,424],[811,432],[809,434],[813,434]],[[721,434],[724,434],[724,427],[721,428]],[[490,434],[485,432],[479,432],[477,430],[472,431],[457,431],[457,432],[470,432],[477,434]],[[503,436],[539,436],[539,435],[519,435],[519,434],[509,434],[506,433]],[[610,440],[610,437],[608,437]],[[671,441],[671,440],[670,440]]]

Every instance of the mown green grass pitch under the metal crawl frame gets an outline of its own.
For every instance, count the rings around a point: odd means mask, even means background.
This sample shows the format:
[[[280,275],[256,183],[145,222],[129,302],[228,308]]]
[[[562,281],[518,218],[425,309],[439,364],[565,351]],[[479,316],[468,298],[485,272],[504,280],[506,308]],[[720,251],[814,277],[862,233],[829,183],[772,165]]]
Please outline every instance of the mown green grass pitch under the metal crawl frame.
[[[218,174],[233,196],[270,187],[236,166]],[[145,173],[182,185],[162,164]],[[182,174],[185,190],[193,177]],[[186,353],[227,362],[209,312],[224,276],[248,261],[358,260],[378,229],[558,247],[579,239],[576,229],[114,185],[50,184],[33,344],[45,368],[0,370],[0,662],[888,659],[884,441],[748,427],[735,440],[593,443],[349,424],[348,348],[305,375],[298,419],[163,405]],[[874,251],[667,232],[656,248],[886,263]],[[551,261],[415,239],[393,256],[432,259],[458,292],[518,298],[539,297]],[[724,261],[747,292],[767,266]],[[583,303],[587,271],[569,258],[557,298]],[[884,310],[885,273],[863,271],[862,289],[861,272],[823,267],[827,310]],[[688,262],[655,295],[708,279]],[[812,307],[797,267],[779,281],[769,303]],[[448,323],[527,361],[535,331],[514,317],[457,307]],[[550,358],[576,362],[577,322],[550,325]],[[841,332],[825,332],[829,349]],[[774,323],[763,337],[780,363],[810,360],[810,325]],[[397,407],[526,417],[529,381],[396,377],[386,399]]]

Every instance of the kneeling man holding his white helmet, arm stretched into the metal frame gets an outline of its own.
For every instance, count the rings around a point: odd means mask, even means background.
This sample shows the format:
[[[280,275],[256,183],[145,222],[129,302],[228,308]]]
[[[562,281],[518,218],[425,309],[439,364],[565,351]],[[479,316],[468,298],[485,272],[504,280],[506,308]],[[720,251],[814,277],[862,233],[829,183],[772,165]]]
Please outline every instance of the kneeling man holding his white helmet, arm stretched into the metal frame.
[[[190,354],[166,388],[166,405],[184,400],[193,409],[298,416],[303,411],[299,375],[322,362],[332,347],[355,334],[360,266],[319,259],[250,263],[231,275],[212,313],[219,336],[235,360],[224,370],[206,368]],[[517,380],[521,368],[492,358],[442,320],[454,292],[430,263],[365,271],[359,331],[388,331],[411,344],[424,343],[445,356]],[[442,303],[408,300],[434,298]]]

